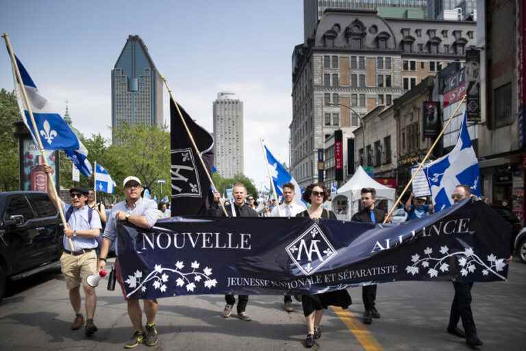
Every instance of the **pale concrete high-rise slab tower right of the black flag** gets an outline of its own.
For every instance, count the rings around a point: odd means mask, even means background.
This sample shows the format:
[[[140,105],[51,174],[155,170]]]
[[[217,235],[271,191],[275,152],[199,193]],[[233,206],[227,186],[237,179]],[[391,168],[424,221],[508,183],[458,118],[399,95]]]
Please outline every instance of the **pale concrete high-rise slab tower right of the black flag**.
[[[214,154],[223,178],[243,173],[243,101],[221,92],[214,101]]]

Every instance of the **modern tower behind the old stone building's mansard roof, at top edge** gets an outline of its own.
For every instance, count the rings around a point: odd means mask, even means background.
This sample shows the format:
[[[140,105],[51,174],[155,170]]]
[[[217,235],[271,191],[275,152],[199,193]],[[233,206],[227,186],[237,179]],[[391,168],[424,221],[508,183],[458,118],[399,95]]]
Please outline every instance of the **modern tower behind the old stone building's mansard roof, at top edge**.
[[[318,22],[327,9],[376,10],[379,16],[425,19],[428,0],[303,0],[304,40],[314,38]]]

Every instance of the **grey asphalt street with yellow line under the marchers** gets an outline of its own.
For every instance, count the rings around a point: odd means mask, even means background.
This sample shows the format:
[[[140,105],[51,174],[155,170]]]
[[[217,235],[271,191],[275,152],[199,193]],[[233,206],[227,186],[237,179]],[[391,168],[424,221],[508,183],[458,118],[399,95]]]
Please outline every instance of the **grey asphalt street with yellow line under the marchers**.
[[[118,288],[118,287],[117,287]],[[379,285],[381,319],[361,322],[361,289],[350,289],[347,311],[329,309],[323,335],[313,350],[470,350],[463,339],[445,332],[453,287],[449,282],[396,282]],[[508,282],[475,283],[472,309],[480,350],[526,350],[526,265],[515,261]],[[0,304],[0,350],[121,350],[131,335],[125,302],[118,291],[97,289],[91,339],[73,331],[73,311],[59,271],[38,274],[8,287]],[[305,350],[301,305],[282,310],[280,296],[253,296],[244,322],[224,319],[223,296],[201,295],[160,300],[160,341],[135,350]]]

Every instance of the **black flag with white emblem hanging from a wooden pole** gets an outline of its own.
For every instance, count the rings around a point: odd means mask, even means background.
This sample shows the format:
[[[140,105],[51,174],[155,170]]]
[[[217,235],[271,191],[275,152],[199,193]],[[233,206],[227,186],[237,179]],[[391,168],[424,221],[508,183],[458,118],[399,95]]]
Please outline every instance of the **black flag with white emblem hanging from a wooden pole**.
[[[208,172],[214,165],[214,138],[179,105],[181,115],[201,153]],[[170,99],[171,215],[206,215],[212,192],[210,180],[196,154],[177,108]]]

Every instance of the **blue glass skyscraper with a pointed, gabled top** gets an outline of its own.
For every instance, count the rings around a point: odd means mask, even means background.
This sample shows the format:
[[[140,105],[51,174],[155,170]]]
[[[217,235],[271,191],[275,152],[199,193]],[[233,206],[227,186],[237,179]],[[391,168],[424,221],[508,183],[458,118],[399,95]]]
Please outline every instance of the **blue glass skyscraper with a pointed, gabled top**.
[[[112,69],[112,140],[120,123],[162,125],[162,79],[139,36],[128,36]]]

